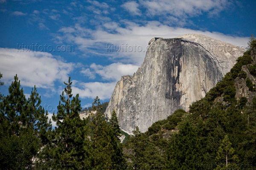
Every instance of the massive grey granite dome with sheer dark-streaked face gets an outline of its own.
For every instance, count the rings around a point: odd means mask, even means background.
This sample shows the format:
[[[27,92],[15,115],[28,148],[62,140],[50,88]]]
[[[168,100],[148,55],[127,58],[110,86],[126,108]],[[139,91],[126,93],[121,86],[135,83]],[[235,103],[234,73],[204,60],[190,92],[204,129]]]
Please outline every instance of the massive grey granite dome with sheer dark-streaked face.
[[[116,83],[105,115],[110,119],[114,109],[122,130],[131,134],[138,126],[145,132],[179,108],[188,111],[242,53],[235,45],[200,34],[153,38],[137,72]]]

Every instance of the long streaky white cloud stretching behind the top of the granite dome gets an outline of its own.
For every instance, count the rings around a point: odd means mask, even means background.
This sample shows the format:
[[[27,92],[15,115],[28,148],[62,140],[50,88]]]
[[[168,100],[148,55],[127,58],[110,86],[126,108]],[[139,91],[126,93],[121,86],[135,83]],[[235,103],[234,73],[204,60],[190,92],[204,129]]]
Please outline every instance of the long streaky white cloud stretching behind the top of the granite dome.
[[[127,20],[122,20],[120,23],[106,22],[102,26],[98,26],[96,30],[76,24],[74,27],[64,27],[59,31],[63,33],[63,36],[59,36],[58,41],[75,43],[79,50],[85,51],[87,55],[102,55],[109,57],[114,62],[118,60],[118,62],[134,65],[142,64],[148,42],[154,37],[175,38],[189,33],[204,34],[239,46],[246,46],[249,38],[172,27],[158,21],[148,21],[144,25]]]

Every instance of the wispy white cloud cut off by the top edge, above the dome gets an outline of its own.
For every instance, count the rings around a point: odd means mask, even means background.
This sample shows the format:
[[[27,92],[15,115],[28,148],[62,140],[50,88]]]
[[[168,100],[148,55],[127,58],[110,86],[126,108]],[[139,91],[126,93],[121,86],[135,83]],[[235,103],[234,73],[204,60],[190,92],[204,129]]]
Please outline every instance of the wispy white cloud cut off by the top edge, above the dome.
[[[193,17],[207,12],[210,16],[228,8],[230,0],[139,0],[149,16],[170,14],[175,17]]]

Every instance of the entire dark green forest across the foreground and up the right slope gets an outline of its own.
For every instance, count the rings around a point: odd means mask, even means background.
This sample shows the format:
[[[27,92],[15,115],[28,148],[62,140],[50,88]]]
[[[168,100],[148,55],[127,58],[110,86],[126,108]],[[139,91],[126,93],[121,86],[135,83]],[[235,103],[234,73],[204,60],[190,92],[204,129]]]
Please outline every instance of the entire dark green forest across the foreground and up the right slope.
[[[241,71],[246,65],[256,77],[256,60],[250,55],[256,48],[254,37],[248,45],[230,72],[189,112],[179,109],[145,133],[136,128],[124,143],[116,112],[107,122],[98,97],[84,109],[94,112],[80,119],[81,101],[72,94],[70,78],[53,114],[53,128],[36,87],[26,99],[16,75],[9,95],[0,94],[0,169],[256,169],[256,95],[236,98],[234,84],[241,80],[252,94],[256,91]]]

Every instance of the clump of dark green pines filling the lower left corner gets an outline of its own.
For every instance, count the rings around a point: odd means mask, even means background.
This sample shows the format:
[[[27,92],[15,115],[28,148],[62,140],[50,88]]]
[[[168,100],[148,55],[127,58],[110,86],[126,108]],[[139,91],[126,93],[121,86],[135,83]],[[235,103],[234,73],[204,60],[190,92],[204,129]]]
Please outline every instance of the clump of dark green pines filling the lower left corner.
[[[40,103],[36,88],[26,100],[16,74],[9,95],[0,102],[0,162],[3,169],[25,169],[38,161],[35,158],[43,146],[45,133],[51,128]]]

